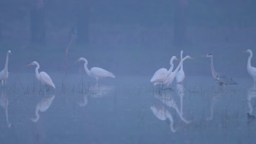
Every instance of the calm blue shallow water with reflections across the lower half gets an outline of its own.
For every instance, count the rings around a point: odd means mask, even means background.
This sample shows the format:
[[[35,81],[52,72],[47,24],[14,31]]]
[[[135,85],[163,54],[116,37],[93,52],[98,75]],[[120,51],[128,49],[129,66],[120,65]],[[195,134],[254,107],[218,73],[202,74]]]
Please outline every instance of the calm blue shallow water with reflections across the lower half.
[[[173,82],[172,92],[159,92],[150,76],[104,79],[98,89],[86,75],[67,79],[49,75],[56,85],[54,92],[43,92],[34,74],[10,75],[7,88],[0,90],[1,143],[256,142],[256,122],[246,115],[255,115],[256,88],[251,78],[235,79],[237,86],[223,89],[212,77],[187,77],[182,86]],[[178,115],[181,97],[182,117],[192,121],[188,124]],[[170,113],[176,132],[150,106]],[[39,119],[33,122],[36,107]]]

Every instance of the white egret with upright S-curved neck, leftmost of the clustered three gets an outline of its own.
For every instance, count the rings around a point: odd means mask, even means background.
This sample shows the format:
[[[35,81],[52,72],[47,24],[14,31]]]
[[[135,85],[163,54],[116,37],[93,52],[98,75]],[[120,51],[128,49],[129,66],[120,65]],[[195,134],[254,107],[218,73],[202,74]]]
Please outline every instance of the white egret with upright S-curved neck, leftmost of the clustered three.
[[[171,60],[170,60],[170,69],[167,70],[165,68],[161,68],[157,71],[155,71],[155,74],[153,75],[152,79],[150,80],[150,82],[154,82],[154,85],[164,82],[164,80],[166,79],[166,77],[168,75],[170,75],[170,73],[172,72],[173,69],[173,61],[177,60],[180,61],[176,56],[172,56]]]

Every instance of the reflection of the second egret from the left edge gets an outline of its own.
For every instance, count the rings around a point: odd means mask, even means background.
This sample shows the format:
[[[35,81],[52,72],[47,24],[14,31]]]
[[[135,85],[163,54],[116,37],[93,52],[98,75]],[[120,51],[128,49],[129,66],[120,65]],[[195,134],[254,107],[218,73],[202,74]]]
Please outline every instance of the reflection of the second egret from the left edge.
[[[40,112],[46,111],[51,106],[51,103],[53,103],[54,98],[55,98],[55,94],[44,96],[43,99],[37,103],[36,111],[35,111],[36,118],[29,118],[29,119],[31,119],[31,121],[33,122],[37,122],[39,119],[38,111]]]

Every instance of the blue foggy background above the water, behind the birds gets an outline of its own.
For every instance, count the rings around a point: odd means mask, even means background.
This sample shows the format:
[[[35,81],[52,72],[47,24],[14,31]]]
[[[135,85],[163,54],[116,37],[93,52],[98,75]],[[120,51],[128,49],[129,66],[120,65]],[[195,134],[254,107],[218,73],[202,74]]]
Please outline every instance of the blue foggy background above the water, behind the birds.
[[[31,44],[31,3],[2,1],[0,67],[11,50],[10,73],[30,72],[25,66],[32,61],[39,62],[40,70],[62,73],[70,28],[78,27],[69,47],[68,73],[78,73],[81,65],[73,62],[85,57],[89,68],[102,67],[116,75],[153,75],[159,68],[170,67],[170,58],[179,57],[183,50],[184,56],[196,59],[184,62],[188,76],[210,76],[210,59],[200,56],[212,53],[216,71],[248,77],[248,53],[241,51],[255,47],[256,3],[181,2],[185,40],[175,45],[175,16],[180,13],[175,1],[44,1],[46,44],[40,46]],[[88,23],[88,44],[78,42],[86,32],[79,22]]]

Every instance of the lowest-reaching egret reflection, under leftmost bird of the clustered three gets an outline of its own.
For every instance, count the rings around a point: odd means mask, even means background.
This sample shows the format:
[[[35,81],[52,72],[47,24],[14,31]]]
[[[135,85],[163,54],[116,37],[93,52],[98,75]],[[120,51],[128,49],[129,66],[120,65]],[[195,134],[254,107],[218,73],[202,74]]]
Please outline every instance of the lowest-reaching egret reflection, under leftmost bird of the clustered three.
[[[154,115],[162,120],[169,120],[170,121],[170,128],[172,130],[172,132],[174,133],[176,131],[176,129],[173,128],[173,118],[171,113],[166,109],[165,106],[150,106],[150,109],[152,110],[152,112],[154,113]]]

